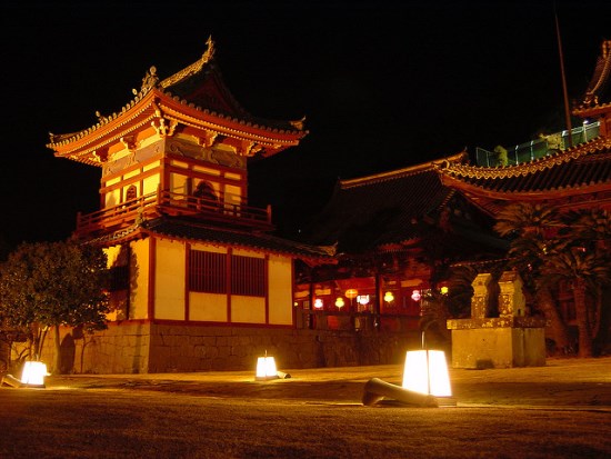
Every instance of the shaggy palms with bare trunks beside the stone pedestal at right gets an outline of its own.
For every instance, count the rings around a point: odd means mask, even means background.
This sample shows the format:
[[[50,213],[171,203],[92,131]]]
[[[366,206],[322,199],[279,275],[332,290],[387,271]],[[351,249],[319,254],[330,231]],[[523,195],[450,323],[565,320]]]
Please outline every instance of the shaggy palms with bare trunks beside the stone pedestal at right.
[[[560,214],[548,206],[518,202],[499,213],[494,229],[513,238],[512,263],[525,283],[534,286],[559,347],[567,342],[568,329],[551,290],[561,283],[572,288],[579,355],[592,356],[593,337],[599,330],[602,337],[608,329],[609,310],[603,308],[601,293],[602,286],[611,282],[609,213],[591,208]]]

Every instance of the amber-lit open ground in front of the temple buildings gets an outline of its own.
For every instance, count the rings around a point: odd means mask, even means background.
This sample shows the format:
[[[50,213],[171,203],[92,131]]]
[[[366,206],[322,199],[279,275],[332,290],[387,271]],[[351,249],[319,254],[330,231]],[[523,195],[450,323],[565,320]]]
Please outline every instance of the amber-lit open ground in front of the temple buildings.
[[[0,458],[607,458],[611,358],[452,370],[458,406],[363,407],[400,366],[51,377],[0,390]]]

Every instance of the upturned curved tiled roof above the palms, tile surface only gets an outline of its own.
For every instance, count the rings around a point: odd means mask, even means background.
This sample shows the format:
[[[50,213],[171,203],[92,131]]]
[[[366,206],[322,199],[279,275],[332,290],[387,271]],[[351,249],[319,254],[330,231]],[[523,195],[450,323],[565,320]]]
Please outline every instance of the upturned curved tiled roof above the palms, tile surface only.
[[[503,168],[467,164],[440,167],[442,180],[458,189],[480,189],[487,196],[583,192],[584,187],[611,183],[611,139],[597,138],[555,154]]]

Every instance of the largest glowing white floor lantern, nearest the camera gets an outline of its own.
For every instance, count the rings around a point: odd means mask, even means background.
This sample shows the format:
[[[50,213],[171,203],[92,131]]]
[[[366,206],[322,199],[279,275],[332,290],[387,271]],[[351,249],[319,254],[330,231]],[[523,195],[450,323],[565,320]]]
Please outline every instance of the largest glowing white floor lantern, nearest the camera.
[[[403,388],[434,397],[452,397],[445,353],[441,350],[408,351]]]

